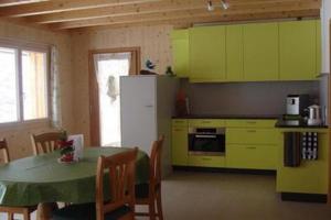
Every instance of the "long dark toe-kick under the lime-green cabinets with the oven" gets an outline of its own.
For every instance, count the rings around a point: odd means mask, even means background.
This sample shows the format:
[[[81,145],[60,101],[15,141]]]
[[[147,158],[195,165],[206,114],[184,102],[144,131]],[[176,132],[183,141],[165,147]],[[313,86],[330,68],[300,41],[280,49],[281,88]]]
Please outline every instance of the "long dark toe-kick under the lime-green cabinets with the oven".
[[[197,166],[172,166],[173,170],[183,172],[209,172],[209,173],[228,173],[228,174],[252,174],[252,175],[270,175],[275,176],[276,170],[269,169],[243,169],[243,168],[215,168]]]

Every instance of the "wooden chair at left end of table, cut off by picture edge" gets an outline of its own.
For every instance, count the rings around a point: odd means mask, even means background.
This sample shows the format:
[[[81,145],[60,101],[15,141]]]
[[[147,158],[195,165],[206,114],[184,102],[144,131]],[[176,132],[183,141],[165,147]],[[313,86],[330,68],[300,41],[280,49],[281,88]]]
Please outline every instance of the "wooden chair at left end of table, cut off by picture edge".
[[[10,162],[8,144],[6,139],[0,141],[0,151],[3,152],[4,163]],[[0,206],[0,212],[7,212],[8,219],[13,220],[14,213],[23,215],[24,220],[30,220],[30,215],[36,210],[36,206],[31,207],[8,207],[8,206]]]

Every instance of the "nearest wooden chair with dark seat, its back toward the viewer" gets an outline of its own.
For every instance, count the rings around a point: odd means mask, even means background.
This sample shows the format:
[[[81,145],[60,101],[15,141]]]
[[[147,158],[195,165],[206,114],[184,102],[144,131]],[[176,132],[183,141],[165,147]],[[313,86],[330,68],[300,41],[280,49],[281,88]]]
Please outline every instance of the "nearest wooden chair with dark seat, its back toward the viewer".
[[[96,202],[72,205],[53,212],[53,220],[134,220],[135,179],[138,148],[109,157],[100,156],[97,164]],[[105,170],[109,175],[105,176]],[[109,179],[105,179],[108,177]],[[110,183],[111,200],[104,197],[104,183]]]

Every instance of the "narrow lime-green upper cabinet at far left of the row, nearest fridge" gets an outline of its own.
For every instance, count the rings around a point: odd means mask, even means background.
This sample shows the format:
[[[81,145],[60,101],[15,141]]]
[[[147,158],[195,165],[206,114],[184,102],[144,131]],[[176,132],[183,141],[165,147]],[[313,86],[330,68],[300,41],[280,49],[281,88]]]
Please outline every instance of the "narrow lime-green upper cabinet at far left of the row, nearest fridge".
[[[171,33],[173,70],[178,77],[189,76],[189,30]]]

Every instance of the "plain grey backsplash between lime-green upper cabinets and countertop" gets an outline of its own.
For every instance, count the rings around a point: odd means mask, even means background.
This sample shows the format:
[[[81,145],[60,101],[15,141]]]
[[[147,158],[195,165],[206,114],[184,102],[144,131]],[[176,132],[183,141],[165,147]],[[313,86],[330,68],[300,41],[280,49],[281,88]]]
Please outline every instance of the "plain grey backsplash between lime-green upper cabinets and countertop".
[[[289,94],[309,94],[319,103],[319,81],[190,84],[181,80],[192,114],[270,116],[285,113]]]

